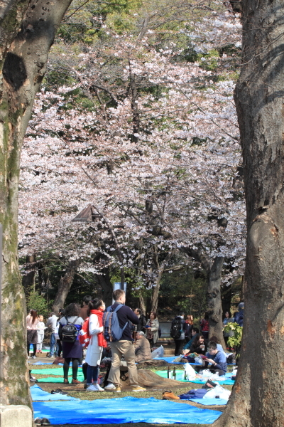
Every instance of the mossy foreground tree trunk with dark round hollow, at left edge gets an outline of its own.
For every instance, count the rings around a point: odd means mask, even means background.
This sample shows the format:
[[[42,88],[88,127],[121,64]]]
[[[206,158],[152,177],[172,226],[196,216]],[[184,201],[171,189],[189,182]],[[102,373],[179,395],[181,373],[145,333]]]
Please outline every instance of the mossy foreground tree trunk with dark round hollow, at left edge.
[[[4,0],[0,5],[3,75],[0,80],[0,223],[4,233],[0,404],[4,405],[31,406],[26,363],[26,304],[17,253],[20,152],[33,100],[45,73],[48,51],[70,2]]]

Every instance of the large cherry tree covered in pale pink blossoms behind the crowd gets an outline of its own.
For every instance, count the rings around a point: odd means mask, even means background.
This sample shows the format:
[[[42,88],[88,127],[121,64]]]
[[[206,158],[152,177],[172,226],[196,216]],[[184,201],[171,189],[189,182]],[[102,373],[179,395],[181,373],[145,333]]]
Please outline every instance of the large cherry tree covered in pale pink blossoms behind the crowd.
[[[217,44],[224,28],[229,41],[238,44],[238,21],[225,15],[217,24]],[[196,55],[207,56],[213,24],[206,46],[201,33],[188,27],[182,34],[191,37]],[[58,254],[67,251],[71,260],[84,253],[82,268],[87,268],[98,242],[109,240],[104,221],[92,227],[87,240],[75,235],[89,226],[71,230],[75,212],[90,203],[114,228],[124,261],[118,263],[112,243],[104,256],[119,268],[137,268],[153,286],[155,308],[160,277],[174,267],[170,261],[177,248],[203,260],[203,267],[206,259],[210,271],[218,260],[218,286],[224,258],[234,259],[241,272],[245,225],[234,82],[210,80],[212,71],[204,63],[211,57],[182,62],[174,43],[157,51],[152,33],[137,43],[129,34],[106,31],[113,43],[99,51],[102,56],[89,48],[75,65],[66,60],[71,88],[60,88],[57,95],[43,90],[38,97],[23,152],[21,253],[49,247]],[[116,58],[115,70],[108,58]],[[79,104],[70,107],[79,93],[92,102],[87,112]],[[26,221],[31,208],[39,221]],[[221,300],[218,304],[220,311]],[[219,325],[220,319],[219,312]]]

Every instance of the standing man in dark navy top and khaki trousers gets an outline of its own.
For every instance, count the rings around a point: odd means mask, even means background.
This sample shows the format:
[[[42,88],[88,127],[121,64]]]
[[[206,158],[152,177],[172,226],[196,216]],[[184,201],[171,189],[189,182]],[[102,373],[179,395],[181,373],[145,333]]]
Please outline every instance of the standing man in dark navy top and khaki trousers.
[[[111,311],[114,311],[116,307],[120,304],[125,304],[125,292],[121,289],[116,289],[112,294],[114,298],[114,304],[111,305]],[[126,325],[124,332],[121,335],[119,341],[114,341],[109,343],[112,353],[112,363],[111,370],[109,371],[109,384],[104,387],[105,391],[115,391],[116,393],[121,392],[121,382],[120,382],[120,362],[121,357],[124,356],[124,360],[129,369],[129,385],[132,387],[133,391],[145,391],[143,387],[138,385],[138,375],[135,364],[135,349],[133,340],[131,337],[131,329],[129,327],[129,320],[133,325],[138,325],[139,319],[133,313],[130,307],[124,305],[117,311],[117,317],[119,319],[119,326],[121,329]]]

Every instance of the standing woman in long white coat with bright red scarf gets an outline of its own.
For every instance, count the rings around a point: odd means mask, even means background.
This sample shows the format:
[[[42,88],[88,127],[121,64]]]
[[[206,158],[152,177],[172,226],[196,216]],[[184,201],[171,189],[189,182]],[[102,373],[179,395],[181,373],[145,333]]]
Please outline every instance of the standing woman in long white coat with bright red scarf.
[[[102,317],[105,305],[102,300],[95,298],[89,302],[87,315],[89,316],[89,334],[91,336],[89,347],[87,348],[87,391],[104,391],[97,384],[99,376],[99,364],[102,358],[102,351],[107,347],[107,342],[102,334]]]

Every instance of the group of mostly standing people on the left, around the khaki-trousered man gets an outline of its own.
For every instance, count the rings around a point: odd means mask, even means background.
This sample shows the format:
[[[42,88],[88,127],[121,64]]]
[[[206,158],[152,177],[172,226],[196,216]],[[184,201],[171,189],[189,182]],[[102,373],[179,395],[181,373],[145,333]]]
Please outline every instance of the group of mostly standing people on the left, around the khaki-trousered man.
[[[151,312],[149,319],[143,315],[139,308],[131,310],[125,305],[126,295],[123,290],[115,290],[113,293],[114,304],[109,307],[111,312],[116,310],[119,325],[123,330],[121,339],[114,342],[107,342],[103,334],[103,315],[106,307],[104,302],[86,296],[83,305],[72,303],[65,310],[59,310],[59,316],[54,312],[50,313],[46,324],[43,323],[43,316],[38,315],[35,310],[31,310],[26,318],[28,357],[30,345],[33,344],[33,355],[42,352],[44,331],[50,327],[50,352],[48,357],[64,358],[63,382],[69,383],[68,373],[72,362],[72,384],[78,384],[78,367],[82,364],[83,346],[80,344],[80,331],[84,320],[88,318],[89,345],[85,354],[83,372],[86,377],[87,391],[114,391],[121,390],[121,367],[128,370],[129,385],[133,391],[144,391],[138,385],[138,375],[136,369],[137,362],[151,359],[151,348],[155,347],[159,338],[159,322],[155,312]],[[70,331],[75,329],[76,339],[65,339],[66,326]],[[71,333],[71,332],[70,332]],[[108,372],[108,384],[104,389],[99,385],[99,366],[102,359],[109,360],[110,369]]]

